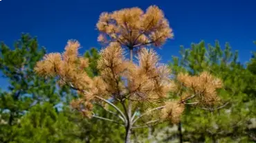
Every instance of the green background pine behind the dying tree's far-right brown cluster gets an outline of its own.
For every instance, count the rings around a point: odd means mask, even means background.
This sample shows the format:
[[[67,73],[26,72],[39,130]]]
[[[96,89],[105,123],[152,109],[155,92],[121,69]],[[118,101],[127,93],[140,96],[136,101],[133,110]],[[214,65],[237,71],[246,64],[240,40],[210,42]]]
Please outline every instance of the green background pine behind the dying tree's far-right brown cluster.
[[[250,142],[248,121],[253,117],[253,98],[246,94],[253,76],[237,61],[238,53],[226,43],[224,50],[201,41],[191,48],[181,47],[181,58],[170,64],[173,74],[188,72],[196,75],[207,71],[223,80],[220,104],[194,109],[187,107],[182,119],[183,140],[191,142]],[[193,121],[193,122],[192,122]]]

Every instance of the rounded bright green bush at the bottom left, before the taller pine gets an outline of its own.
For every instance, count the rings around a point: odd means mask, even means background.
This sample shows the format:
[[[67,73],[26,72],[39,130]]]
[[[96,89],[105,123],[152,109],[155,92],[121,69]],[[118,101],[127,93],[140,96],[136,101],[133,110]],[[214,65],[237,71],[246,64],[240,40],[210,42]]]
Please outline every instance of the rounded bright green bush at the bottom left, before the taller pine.
[[[78,129],[77,124],[69,122],[64,113],[58,113],[48,102],[30,109],[20,122],[15,126],[17,135],[13,142],[82,142],[73,133]]]

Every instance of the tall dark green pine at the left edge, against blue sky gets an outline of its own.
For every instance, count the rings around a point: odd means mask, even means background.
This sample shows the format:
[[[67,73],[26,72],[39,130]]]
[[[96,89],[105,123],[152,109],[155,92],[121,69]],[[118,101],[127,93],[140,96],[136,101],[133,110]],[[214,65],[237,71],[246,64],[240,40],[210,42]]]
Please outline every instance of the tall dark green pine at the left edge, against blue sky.
[[[29,34],[22,34],[14,48],[1,43],[0,70],[3,78],[8,79],[8,90],[0,93],[1,142],[15,139],[15,126],[35,104],[46,101],[57,104],[65,95],[64,87],[63,90],[56,89],[55,80],[46,80],[33,72],[44,54],[44,47],[39,47],[37,39]]]

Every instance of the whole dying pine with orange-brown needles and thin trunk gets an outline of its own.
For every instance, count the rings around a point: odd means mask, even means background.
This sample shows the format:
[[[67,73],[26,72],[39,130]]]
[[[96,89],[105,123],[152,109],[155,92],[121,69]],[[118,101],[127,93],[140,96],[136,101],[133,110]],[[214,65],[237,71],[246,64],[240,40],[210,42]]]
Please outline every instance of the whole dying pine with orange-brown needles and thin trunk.
[[[146,47],[160,47],[174,34],[163,11],[150,6],[103,12],[97,23],[98,41],[108,44],[100,52],[100,75],[91,78],[84,68],[88,61],[78,56],[80,43],[68,41],[65,52],[51,53],[37,63],[35,71],[42,76],[54,76],[60,85],[69,85],[82,95],[71,106],[87,118],[99,118],[125,126],[125,142],[130,142],[131,130],[153,126],[171,120],[176,123],[188,100],[207,106],[218,102],[216,89],[221,80],[207,72],[199,76],[179,75],[179,85],[170,79],[170,70],[159,64],[159,56]],[[129,51],[130,58],[125,57]],[[135,52],[136,51],[136,52]],[[137,61],[133,61],[136,56]],[[179,100],[168,98],[170,91],[183,88]],[[93,112],[93,104],[113,113],[116,119],[103,118]],[[118,120],[119,119],[119,120]]]

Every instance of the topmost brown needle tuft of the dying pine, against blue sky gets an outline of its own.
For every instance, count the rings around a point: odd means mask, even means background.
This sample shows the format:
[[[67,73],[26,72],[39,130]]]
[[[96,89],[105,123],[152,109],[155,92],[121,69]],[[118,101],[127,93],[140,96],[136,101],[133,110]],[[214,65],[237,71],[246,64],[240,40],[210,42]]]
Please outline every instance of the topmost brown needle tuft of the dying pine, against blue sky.
[[[102,12],[97,28],[101,32],[98,41],[117,41],[130,49],[150,43],[160,46],[174,36],[163,11],[156,5],[149,6],[146,12],[140,8]]]

